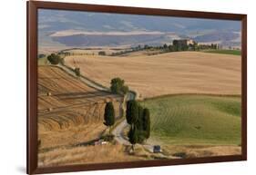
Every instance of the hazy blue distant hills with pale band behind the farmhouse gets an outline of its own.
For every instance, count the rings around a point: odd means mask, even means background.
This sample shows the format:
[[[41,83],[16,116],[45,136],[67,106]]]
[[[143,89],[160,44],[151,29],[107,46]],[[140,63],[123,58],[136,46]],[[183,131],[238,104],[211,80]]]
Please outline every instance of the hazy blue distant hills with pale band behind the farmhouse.
[[[44,46],[119,46],[171,43],[191,38],[200,43],[241,45],[238,21],[118,15],[40,9],[39,48]]]

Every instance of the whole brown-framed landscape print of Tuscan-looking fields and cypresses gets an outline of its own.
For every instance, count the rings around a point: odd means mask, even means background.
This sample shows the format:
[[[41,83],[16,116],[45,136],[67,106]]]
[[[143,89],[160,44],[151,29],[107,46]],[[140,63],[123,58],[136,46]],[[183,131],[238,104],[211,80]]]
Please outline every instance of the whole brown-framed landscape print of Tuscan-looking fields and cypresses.
[[[27,2],[27,173],[247,160],[247,16]]]

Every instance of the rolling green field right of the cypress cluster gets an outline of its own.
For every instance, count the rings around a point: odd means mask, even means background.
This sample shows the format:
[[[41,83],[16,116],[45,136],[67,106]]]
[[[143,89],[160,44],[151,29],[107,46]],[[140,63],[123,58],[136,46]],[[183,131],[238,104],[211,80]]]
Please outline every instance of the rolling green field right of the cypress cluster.
[[[241,97],[169,95],[141,102],[151,115],[151,139],[175,145],[241,144]]]

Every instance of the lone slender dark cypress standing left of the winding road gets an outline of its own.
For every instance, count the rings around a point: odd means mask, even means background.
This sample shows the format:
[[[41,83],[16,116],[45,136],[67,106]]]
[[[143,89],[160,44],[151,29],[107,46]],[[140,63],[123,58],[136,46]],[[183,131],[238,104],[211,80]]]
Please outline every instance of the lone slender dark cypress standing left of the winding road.
[[[110,127],[115,123],[115,110],[112,102],[107,102],[105,106],[104,121],[104,124],[109,127],[110,134]]]

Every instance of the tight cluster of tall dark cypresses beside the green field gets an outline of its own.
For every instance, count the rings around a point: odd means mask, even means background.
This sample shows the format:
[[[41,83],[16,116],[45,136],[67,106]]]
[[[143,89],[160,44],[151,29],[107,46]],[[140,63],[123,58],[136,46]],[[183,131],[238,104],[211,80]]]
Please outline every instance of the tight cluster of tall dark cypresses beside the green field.
[[[132,144],[132,150],[136,143],[142,143],[150,136],[150,113],[148,108],[143,108],[137,101],[127,102],[127,122],[130,125],[128,141]]]

